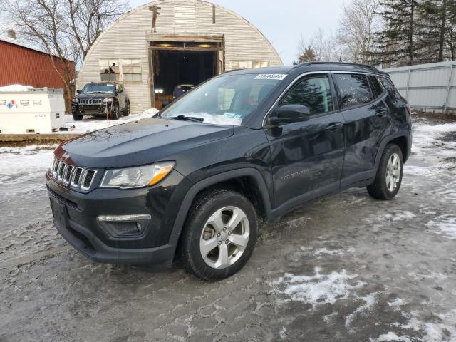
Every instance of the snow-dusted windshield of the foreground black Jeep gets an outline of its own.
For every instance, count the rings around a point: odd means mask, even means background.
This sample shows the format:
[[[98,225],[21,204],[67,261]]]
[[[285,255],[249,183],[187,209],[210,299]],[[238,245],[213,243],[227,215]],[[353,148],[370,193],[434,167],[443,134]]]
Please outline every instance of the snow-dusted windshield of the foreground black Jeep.
[[[195,88],[162,111],[162,118],[179,115],[204,119],[204,123],[241,125],[286,75],[227,75]]]

